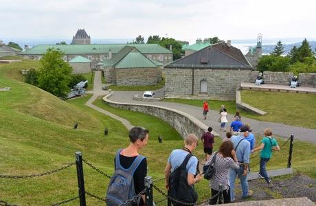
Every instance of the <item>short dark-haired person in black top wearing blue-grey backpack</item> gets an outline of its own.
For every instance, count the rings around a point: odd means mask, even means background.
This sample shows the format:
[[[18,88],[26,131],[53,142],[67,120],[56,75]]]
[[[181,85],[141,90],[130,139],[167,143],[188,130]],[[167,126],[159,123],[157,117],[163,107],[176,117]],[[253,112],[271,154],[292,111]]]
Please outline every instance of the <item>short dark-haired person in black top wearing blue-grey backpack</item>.
[[[148,133],[144,128],[132,128],[129,132],[131,143],[127,148],[117,151],[114,160],[115,172],[106,192],[106,205],[120,205],[145,189],[147,161],[146,157],[139,155],[139,150],[147,145]],[[142,198],[124,205],[145,205],[145,196],[142,195]]]

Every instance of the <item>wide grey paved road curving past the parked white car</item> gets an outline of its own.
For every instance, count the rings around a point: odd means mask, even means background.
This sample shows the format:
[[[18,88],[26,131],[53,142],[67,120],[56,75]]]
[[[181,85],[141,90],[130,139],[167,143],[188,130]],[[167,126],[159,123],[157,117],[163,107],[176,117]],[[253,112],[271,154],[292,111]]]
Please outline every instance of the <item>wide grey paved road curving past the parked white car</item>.
[[[160,93],[161,91],[159,91]],[[166,106],[169,108],[174,108],[179,111],[182,111],[184,113],[188,113],[197,119],[201,119],[201,122],[205,123],[208,126],[212,126],[216,132],[218,132],[221,137],[225,136],[224,132],[221,132],[219,130],[220,125],[217,122],[217,119],[219,117],[218,111],[212,111],[207,114],[207,119],[203,119],[202,114],[202,105],[201,108],[197,106],[190,106],[187,104],[178,104],[178,103],[172,103],[172,102],[142,102],[133,100],[133,95],[136,93],[142,94],[141,91],[115,91],[110,100],[113,100],[115,102],[126,102],[126,103],[136,103],[136,104],[153,104],[158,106]],[[234,118],[234,115],[227,115],[227,119],[229,121],[228,125],[230,125],[230,122],[232,122]],[[295,139],[300,139],[302,141],[308,141],[310,143],[316,144],[316,130],[315,129],[309,129],[309,128],[302,128],[298,126],[289,126],[285,124],[280,123],[273,123],[273,122],[261,122],[255,119],[249,119],[247,117],[242,117],[242,122],[250,124],[251,129],[254,133],[263,133],[264,128],[272,128],[273,134],[289,138],[291,134],[294,134]],[[227,126],[227,130],[228,130]]]

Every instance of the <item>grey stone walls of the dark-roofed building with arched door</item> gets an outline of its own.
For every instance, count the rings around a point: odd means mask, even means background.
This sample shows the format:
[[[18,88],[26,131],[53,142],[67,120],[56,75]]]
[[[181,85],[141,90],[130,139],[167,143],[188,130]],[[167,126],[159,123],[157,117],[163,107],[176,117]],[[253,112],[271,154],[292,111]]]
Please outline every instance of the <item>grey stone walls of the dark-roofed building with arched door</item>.
[[[207,98],[235,100],[236,87],[240,82],[249,82],[251,69],[173,69],[165,68],[166,95],[201,94],[201,81],[207,82]],[[194,82],[192,82],[194,76]]]

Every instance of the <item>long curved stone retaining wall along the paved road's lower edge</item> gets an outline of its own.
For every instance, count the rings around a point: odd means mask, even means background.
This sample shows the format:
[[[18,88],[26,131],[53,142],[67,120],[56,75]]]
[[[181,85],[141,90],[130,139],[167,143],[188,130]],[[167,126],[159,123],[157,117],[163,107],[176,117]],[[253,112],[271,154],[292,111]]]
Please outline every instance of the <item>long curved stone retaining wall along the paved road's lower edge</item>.
[[[177,111],[172,108],[166,108],[163,106],[113,102],[108,99],[110,95],[107,95],[103,98],[103,100],[107,102],[107,104],[109,104],[110,106],[154,115],[155,117],[168,122],[168,124],[175,128],[175,130],[177,130],[177,132],[183,138],[190,133],[194,133],[197,137],[201,137],[205,130],[207,130],[207,126],[203,124],[203,122],[199,121],[199,119],[196,119],[195,117],[181,111]],[[217,134],[215,133],[215,135]]]

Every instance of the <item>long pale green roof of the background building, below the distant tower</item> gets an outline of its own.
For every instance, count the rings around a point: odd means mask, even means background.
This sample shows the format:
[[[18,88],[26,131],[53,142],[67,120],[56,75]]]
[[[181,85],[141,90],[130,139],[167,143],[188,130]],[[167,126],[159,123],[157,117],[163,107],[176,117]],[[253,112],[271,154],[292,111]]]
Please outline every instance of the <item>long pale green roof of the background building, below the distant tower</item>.
[[[109,50],[117,54],[125,46],[136,47],[142,53],[172,54],[172,52],[157,44],[100,44],[100,45],[37,45],[21,52],[21,55],[45,54],[48,48],[60,49],[65,54],[108,54]]]

